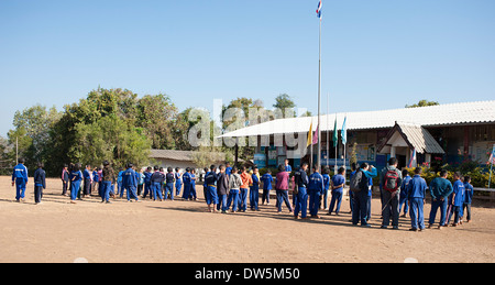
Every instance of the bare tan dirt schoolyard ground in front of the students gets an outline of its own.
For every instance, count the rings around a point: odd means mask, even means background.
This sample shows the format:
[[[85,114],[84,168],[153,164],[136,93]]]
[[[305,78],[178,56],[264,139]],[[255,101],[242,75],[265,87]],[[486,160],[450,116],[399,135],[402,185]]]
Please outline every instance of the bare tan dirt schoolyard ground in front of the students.
[[[197,188],[199,201],[105,205],[91,197],[72,205],[59,179],[47,179],[43,204],[34,205],[32,184],[19,204],[10,177],[0,177],[0,262],[495,262],[494,208],[474,206],[473,221],[458,228],[409,232],[408,218],[399,230],[380,229],[378,199],[366,229],[351,224],[348,200],[340,216],[296,221],[286,209],[277,215],[274,200],[258,212],[206,212]]]

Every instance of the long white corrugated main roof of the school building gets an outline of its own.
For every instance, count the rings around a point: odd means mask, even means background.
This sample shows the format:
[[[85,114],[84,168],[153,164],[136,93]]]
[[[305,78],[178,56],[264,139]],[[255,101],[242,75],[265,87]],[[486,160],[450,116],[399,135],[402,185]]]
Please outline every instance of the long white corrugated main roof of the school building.
[[[493,123],[495,122],[495,100],[449,103],[421,108],[324,114],[321,116],[321,130],[333,131],[336,118],[337,127],[341,130],[345,116],[348,117],[348,130],[388,129],[393,128],[396,121],[421,127]],[[309,131],[311,120],[316,129],[318,117],[289,118],[246,127],[226,133],[220,138],[305,133]]]

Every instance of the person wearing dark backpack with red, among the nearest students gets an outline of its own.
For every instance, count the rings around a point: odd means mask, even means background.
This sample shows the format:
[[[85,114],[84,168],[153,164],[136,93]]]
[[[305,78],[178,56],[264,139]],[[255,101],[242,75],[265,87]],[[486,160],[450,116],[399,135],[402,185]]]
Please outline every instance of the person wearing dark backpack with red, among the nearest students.
[[[393,229],[398,229],[399,220],[399,195],[400,185],[403,183],[403,174],[397,169],[398,161],[392,157],[388,165],[382,171],[380,176],[380,187],[382,187],[384,207],[382,210],[383,222],[382,229],[388,228],[392,218]]]

